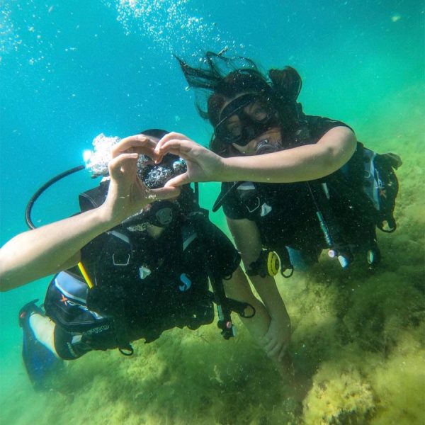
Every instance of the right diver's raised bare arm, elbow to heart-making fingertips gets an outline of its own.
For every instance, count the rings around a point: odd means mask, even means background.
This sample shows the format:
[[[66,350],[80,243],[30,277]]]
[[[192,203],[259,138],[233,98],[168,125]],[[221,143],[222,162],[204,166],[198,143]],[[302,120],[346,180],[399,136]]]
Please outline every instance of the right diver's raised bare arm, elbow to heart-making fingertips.
[[[329,130],[317,143],[271,154],[222,158],[179,133],[159,141],[157,152],[186,159],[188,171],[166,186],[190,181],[258,181],[293,183],[327,176],[341,168],[356,150],[356,136],[346,127]]]

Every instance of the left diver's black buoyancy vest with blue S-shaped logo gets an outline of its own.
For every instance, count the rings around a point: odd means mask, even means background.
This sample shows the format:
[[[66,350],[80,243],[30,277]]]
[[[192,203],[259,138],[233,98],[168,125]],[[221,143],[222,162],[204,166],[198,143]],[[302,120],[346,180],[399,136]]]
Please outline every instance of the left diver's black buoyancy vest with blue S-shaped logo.
[[[176,244],[167,246],[170,251],[164,261],[164,256],[154,258],[159,253],[146,239],[136,245],[131,235],[109,232],[102,241],[105,249],[86,266],[94,288],[89,290],[77,270],[59,273],[47,290],[46,314],[71,333],[113,331],[116,346],[123,349],[129,349],[128,341],[135,339],[154,341],[171,327],[197,329],[211,323],[208,276],[188,252],[196,249],[191,246],[195,239],[193,226],[183,226]]]

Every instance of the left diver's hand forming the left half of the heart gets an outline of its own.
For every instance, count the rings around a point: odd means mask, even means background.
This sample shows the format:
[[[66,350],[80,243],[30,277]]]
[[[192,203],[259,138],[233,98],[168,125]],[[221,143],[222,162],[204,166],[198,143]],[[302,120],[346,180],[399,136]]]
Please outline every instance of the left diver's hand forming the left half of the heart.
[[[126,137],[113,148],[112,159],[108,164],[111,183],[106,201],[101,206],[106,220],[118,225],[155,200],[179,196],[179,188],[170,186],[149,189],[137,176],[139,154],[156,159],[155,146],[149,137],[135,135]]]

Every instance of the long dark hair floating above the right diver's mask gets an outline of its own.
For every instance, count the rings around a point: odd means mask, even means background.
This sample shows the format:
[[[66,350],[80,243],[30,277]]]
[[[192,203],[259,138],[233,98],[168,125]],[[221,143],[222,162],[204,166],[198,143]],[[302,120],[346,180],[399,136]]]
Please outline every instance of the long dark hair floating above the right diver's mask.
[[[177,60],[188,85],[198,89],[197,94],[206,94],[198,96],[196,107],[213,127],[219,122],[222,106],[229,98],[242,93],[258,93],[276,109],[282,137],[297,128],[299,117],[296,100],[302,81],[294,68],[270,69],[266,77],[246,57],[229,58],[220,53],[207,52],[198,68],[189,66],[179,57]],[[222,156],[234,156],[237,153],[231,145],[222,143],[214,135],[210,149]]]

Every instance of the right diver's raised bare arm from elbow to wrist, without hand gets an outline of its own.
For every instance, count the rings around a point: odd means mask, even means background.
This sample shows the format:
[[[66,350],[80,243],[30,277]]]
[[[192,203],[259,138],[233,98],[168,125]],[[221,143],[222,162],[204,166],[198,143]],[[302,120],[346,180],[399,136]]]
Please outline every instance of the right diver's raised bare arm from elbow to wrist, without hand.
[[[223,159],[221,181],[292,183],[327,176],[356,150],[356,136],[346,127],[329,130],[316,144],[271,154]]]

